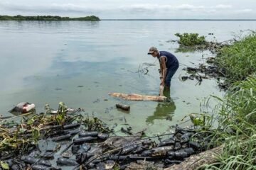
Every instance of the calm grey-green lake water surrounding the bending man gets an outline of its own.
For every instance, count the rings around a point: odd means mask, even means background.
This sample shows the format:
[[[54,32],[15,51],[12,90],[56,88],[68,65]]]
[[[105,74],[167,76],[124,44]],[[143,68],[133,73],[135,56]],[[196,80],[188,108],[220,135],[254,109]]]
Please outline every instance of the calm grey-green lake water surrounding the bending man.
[[[182,69],[213,56],[208,51],[178,52],[175,33],[199,33],[207,40],[230,40],[255,21],[0,21],[0,115],[21,101],[58,108],[84,108],[106,123],[129,123],[134,132],[166,131],[189,113],[200,113],[210,95],[222,96],[215,79],[181,81]],[[208,35],[214,33],[214,35]],[[158,62],[149,47],[174,53],[181,65],[171,81],[171,102],[122,101],[110,92],[159,94]],[[154,63],[144,75],[143,63]],[[212,101],[212,107],[215,101]],[[129,113],[116,103],[131,106]],[[170,119],[171,120],[166,120]]]

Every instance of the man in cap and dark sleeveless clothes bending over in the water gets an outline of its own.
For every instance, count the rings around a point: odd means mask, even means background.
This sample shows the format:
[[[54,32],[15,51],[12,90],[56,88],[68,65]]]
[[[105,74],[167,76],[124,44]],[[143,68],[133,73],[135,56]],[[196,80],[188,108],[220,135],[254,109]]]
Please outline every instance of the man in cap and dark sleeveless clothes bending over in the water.
[[[164,86],[165,89],[170,90],[171,77],[174,76],[178,69],[178,60],[171,54],[171,52],[158,51],[156,47],[150,47],[148,55],[157,57],[160,64],[160,86]]]

